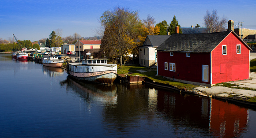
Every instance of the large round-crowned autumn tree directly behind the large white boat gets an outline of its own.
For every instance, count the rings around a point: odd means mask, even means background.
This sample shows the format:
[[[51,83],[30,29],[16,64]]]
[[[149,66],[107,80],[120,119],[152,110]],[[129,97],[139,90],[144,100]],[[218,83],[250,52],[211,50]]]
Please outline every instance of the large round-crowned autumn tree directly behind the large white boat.
[[[103,38],[101,51],[110,60],[120,60],[132,53],[139,42],[142,22],[137,11],[128,8],[115,7],[112,11],[105,11],[100,17]]]

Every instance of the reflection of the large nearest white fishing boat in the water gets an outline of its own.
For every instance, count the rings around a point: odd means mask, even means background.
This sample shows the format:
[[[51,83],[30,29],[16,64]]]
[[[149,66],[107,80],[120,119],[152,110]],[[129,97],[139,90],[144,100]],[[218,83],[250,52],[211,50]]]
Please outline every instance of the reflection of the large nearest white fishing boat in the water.
[[[92,82],[81,82],[72,77],[67,78],[68,86],[75,90],[83,99],[97,100],[103,103],[117,101],[117,86],[102,85]],[[89,101],[90,101],[89,100]]]

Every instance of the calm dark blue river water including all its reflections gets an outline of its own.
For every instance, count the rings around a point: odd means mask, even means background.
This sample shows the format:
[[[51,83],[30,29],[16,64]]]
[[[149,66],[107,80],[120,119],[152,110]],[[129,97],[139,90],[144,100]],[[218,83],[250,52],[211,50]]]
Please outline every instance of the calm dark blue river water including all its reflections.
[[[79,82],[0,54],[1,138],[255,138],[256,111],[148,85]]]

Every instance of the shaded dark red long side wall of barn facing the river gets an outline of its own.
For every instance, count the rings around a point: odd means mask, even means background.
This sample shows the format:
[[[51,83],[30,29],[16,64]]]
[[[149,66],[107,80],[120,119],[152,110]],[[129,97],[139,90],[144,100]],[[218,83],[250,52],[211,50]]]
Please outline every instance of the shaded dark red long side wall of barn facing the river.
[[[164,69],[164,63],[168,63],[168,70]],[[169,63],[176,64],[176,71],[169,71]],[[202,81],[202,65],[209,66],[208,82]],[[185,52],[158,51],[158,75],[169,78],[176,78],[191,82],[200,82],[210,84],[211,76],[211,54],[210,53],[190,53],[190,57],[186,57]]]

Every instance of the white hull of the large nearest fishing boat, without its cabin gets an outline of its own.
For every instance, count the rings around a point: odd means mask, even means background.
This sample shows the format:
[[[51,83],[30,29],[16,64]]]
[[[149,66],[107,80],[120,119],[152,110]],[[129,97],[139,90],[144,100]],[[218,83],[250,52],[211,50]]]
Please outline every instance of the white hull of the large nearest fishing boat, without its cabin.
[[[117,78],[117,65],[68,64],[68,75],[81,81],[112,85]]]

